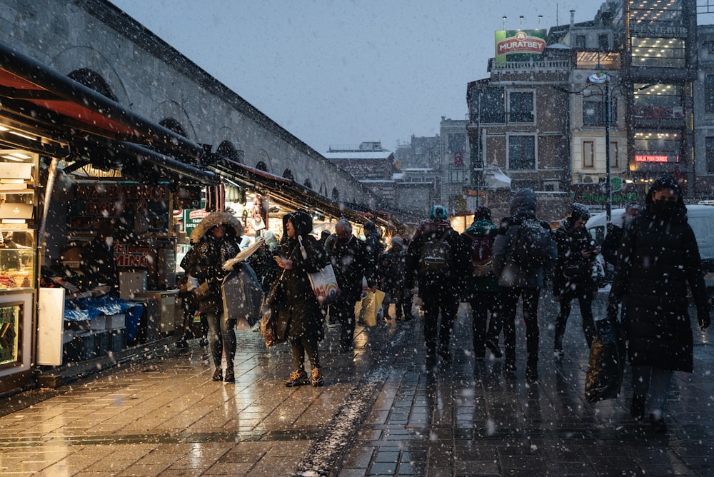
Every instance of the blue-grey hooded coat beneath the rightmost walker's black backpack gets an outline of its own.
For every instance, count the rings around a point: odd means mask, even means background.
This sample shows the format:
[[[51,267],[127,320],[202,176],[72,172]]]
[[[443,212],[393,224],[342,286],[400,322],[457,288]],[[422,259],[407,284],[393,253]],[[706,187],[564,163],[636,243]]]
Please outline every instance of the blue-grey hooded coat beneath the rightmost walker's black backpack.
[[[499,283],[506,287],[523,288],[543,288],[543,267],[538,268],[535,273],[526,273],[521,270],[518,264],[508,258],[509,248],[513,238],[518,233],[523,220],[535,220],[536,198],[535,192],[531,189],[521,189],[513,194],[511,199],[511,216],[501,221],[496,240],[493,241],[493,261],[496,273],[499,276]],[[550,224],[546,221],[539,221],[543,229],[550,231]],[[558,247],[554,240],[550,240],[548,247],[550,263],[558,259]]]

